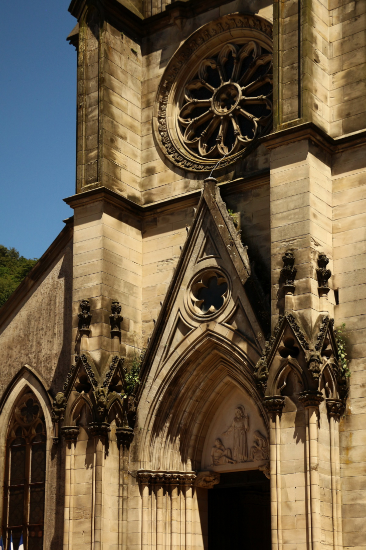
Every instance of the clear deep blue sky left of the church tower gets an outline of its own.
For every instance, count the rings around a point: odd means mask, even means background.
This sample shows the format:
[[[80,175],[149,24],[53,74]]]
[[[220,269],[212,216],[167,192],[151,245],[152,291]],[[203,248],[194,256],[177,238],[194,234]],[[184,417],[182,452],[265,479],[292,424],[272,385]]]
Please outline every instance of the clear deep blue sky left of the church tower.
[[[75,192],[76,20],[69,0],[2,0],[0,244],[40,257]]]

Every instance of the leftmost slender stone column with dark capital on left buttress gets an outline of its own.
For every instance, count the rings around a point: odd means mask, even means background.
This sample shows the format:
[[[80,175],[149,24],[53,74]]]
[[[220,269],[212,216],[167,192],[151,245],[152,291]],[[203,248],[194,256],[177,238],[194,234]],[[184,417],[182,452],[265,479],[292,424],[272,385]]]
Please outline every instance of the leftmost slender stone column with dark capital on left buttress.
[[[64,510],[64,550],[72,550],[72,516],[74,509],[75,445],[79,434],[78,426],[61,428],[66,441],[65,459],[65,510]]]

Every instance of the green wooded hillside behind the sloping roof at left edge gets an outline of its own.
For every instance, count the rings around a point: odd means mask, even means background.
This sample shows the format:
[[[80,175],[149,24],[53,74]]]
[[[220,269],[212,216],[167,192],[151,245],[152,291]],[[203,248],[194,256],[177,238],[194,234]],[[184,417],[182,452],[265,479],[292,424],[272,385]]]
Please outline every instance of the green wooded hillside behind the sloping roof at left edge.
[[[20,256],[15,248],[0,245],[0,307],[37,263],[37,259]]]

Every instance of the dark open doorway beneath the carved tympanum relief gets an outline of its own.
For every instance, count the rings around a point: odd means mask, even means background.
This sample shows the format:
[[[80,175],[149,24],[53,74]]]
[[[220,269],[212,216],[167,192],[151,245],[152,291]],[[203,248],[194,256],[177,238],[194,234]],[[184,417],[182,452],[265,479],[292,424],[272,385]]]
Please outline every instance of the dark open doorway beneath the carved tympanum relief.
[[[271,499],[263,472],[221,474],[207,493],[209,550],[271,550]]]

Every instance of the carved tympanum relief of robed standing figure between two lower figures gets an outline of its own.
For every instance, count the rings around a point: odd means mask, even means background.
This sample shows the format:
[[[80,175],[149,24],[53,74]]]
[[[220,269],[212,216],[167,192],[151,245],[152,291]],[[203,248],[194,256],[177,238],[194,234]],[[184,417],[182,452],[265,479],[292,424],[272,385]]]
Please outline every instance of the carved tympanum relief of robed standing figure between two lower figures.
[[[255,467],[253,462],[268,461],[266,433],[266,426],[255,405],[243,392],[234,390],[212,420],[206,436],[202,468],[243,470]]]

